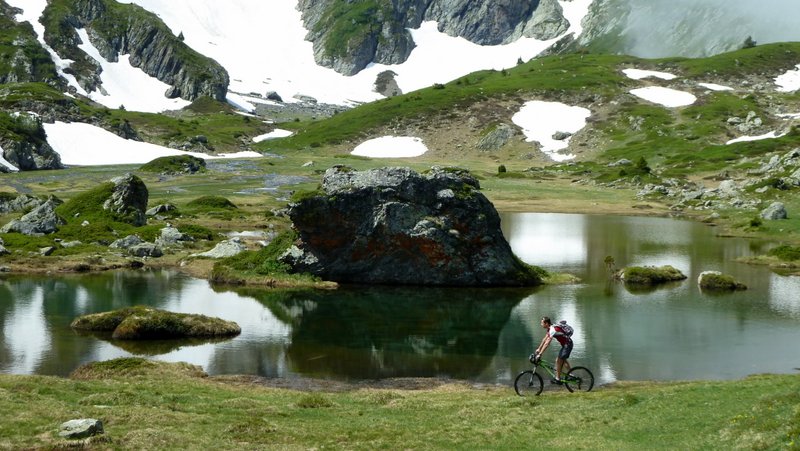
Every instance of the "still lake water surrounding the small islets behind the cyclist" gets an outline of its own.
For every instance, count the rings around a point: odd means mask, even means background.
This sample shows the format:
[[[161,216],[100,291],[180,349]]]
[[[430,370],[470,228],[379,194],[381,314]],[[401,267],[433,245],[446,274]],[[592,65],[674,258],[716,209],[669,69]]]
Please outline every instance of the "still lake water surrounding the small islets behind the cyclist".
[[[441,376],[509,383],[541,340],[542,315],[576,329],[573,364],[614,380],[730,379],[800,367],[800,277],[733,261],[762,244],[664,218],[503,215],[528,263],[582,279],[534,289],[342,287],[283,292],[211,287],[171,272],[0,279],[0,372],[67,375],[78,365],[145,355],[210,374],[332,379]],[[603,263],[671,264],[689,279],[655,290],[608,280]],[[702,293],[720,270],[744,292]],[[109,341],[69,328],[79,315],[145,304],[236,321],[218,342]],[[552,352],[555,352],[552,350]]]

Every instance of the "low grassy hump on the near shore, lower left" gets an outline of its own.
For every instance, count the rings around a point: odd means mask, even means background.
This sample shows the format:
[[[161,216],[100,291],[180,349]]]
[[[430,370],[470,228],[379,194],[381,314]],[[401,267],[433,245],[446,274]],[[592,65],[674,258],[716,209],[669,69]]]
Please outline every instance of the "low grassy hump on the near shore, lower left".
[[[69,375],[71,379],[101,380],[129,377],[208,377],[203,368],[186,362],[169,363],[147,360],[141,357],[126,357],[90,362],[81,365]]]

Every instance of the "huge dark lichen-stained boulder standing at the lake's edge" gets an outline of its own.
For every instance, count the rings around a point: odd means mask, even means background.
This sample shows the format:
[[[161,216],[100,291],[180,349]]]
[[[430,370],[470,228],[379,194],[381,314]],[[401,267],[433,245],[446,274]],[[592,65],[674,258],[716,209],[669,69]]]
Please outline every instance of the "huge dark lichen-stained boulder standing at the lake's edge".
[[[511,252],[500,217],[463,170],[328,169],[292,204],[295,270],[353,283],[523,286],[541,282]]]

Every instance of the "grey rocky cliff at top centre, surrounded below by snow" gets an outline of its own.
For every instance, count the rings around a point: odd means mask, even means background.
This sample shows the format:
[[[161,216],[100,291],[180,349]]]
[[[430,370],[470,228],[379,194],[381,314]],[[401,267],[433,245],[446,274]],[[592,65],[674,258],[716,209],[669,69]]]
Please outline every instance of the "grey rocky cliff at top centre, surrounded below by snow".
[[[557,0],[300,0],[298,9],[317,62],[346,75],[405,61],[414,48],[407,28],[423,21],[482,45],[551,39],[569,27]]]

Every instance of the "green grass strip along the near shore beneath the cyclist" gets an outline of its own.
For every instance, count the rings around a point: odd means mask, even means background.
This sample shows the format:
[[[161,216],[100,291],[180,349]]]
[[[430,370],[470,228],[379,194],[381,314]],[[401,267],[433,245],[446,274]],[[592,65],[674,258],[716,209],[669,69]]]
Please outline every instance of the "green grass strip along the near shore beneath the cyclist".
[[[186,364],[119,359],[76,379],[0,375],[14,415],[0,447],[53,448],[58,425],[97,418],[113,449],[796,449],[800,378],[622,383],[589,393],[451,383],[300,392],[203,378]],[[554,412],[556,412],[554,414]]]

